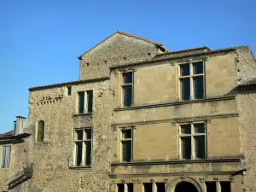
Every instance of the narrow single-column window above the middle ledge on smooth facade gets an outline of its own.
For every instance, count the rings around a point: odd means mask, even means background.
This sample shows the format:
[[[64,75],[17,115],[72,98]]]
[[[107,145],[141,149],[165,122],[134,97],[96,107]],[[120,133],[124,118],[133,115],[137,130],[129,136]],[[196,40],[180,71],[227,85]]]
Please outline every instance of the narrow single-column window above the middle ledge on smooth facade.
[[[123,73],[122,80],[122,100],[123,107],[131,107],[132,106],[132,96],[133,96],[133,74],[132,72]]]

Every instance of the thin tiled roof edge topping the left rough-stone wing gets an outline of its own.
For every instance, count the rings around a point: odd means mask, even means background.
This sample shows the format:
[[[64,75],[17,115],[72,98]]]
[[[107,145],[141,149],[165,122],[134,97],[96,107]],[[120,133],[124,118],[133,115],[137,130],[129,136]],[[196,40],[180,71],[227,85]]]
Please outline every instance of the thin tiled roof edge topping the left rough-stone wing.
[[[53,87],[61,87],[61,86],[67,86],[67,85],[73,85],[73,84],[85,84],[85,83],[91,83],[91,82],[98,82],[98,81],[104,81],[108,80],[109,77],[102,77],[102,78],[96,78],[96,79],[84,79],[84,80],[78,80],[78,81],[70,81],[70,82],[65,82],[61,84],[48,84],[48,85],[43,85],[43,86],[38,86],[38,87],[31,87],[28,90],[44,90],[44,89],[50,89]]]

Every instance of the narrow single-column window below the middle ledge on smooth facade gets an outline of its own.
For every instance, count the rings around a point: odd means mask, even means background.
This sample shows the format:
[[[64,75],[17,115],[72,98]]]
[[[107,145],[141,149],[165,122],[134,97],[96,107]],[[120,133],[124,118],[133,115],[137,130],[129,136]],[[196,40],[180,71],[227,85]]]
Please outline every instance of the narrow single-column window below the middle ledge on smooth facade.
[[[132,148],[132,131],[121,130],[121,160],[125,162],[131,161],[131,148]]]

